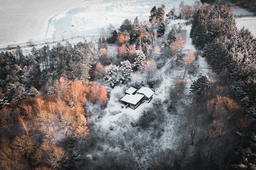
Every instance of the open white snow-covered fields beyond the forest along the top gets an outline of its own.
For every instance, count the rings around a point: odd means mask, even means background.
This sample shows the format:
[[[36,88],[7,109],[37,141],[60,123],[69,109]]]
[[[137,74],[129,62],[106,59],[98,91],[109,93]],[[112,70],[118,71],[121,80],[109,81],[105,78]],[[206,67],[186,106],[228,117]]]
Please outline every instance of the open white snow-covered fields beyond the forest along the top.
[[[181,0],[55,0],[1,1],[0,5],[0,48],[25,46],[30,39],[34,44],[51,43],[83,37],[90,40],[98,35],[98,30],[112,24],[118,28],[126,18],[132,21],[138,16],[140,21],[148,20],[151,8],[164,4],[166,13]],[[185,0],[194,4],[194,0]],[[235,15],[250,15],[248,11],[236,7]],[[239,22],[239,27],[251,21]],[[248,29],[256,30],[255,25]]]

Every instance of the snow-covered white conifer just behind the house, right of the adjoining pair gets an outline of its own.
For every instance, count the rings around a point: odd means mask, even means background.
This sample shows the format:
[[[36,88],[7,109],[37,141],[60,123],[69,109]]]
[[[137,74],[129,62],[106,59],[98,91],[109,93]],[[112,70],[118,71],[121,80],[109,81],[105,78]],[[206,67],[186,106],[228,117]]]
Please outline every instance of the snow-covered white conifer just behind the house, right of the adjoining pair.
[[[132,72],[132,65],[129,60],[124,60],[119,67],[120,83],[125,83],[129,80],[129,77]]]

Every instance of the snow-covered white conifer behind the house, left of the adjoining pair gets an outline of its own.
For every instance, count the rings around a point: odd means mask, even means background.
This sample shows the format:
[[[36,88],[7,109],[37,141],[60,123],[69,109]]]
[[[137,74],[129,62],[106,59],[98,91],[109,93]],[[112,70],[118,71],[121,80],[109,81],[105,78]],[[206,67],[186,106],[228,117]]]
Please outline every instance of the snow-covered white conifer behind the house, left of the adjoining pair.
[[[119,66],[110,64],[105,80],[114,87],[120,81]]]

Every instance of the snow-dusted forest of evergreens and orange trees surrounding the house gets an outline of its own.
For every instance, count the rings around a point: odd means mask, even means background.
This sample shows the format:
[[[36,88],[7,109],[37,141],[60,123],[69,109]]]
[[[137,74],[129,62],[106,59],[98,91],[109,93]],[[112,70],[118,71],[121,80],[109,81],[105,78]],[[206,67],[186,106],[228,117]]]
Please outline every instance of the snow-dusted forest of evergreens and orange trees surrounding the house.
[[[96,43],[0,53],[0,169],[256,168],[256,39],[237,29],[225,1],[150,14],[102,28]],[[184,47],[186,26],[195,51]],[[200,59],[208,75],[198,73]],[[112,95],[157,91],[171,75],[167,98],[136,119],[109,113]],[[111,94],[117,86],[123,92]],[[106,127],[109,114],[121,116]]]

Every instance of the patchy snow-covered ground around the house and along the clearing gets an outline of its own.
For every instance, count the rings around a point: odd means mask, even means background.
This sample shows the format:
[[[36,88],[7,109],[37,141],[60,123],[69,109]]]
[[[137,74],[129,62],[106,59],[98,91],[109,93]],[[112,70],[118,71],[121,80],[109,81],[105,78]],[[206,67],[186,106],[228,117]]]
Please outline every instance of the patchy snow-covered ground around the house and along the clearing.
[[[193,52],[196,51],[195,47],[192,45],[192,41],[190,38],[190,30],[191,30],[191,25],[186,26],[185,24],[185,20],[172,20],[170,21],[170,23],[167,25],[167,31],[170,30],[174,25],[182,25],[182,32],[185,32],[183,35],[183,38],[185,40],[185,44],[184,44],[184,51],[187,50],[192,50]],[[179,23],[179,24],[178,24]],[[179,33],[176,34],[176,36],[178,36]],[[156,43],[161,43],[163,41],[163,38],[159,38],[157,39]],[[196,72],[195,75],[189,75],[186,74],[184,82],[185,82],[185,86],[186,89],[184,90],[185,95],[188,95],[189,93],[189,87],[192,84],[193,81],[195,81],[199,76],[201,75],[208,75],[209,78],[211,78],[211,69],[209,67],[209,65],[207,64],[205,58],[202,57],[198,57],[198,60],[196,62],[196,65],[198,66],[198,71]],[[169,87],[172,87],[174,85],[174,80],[180,77],[183,77],[184,74],[184,70],[185,68],[182,66],[178,66],[177,69],[172,69],[171,73],[167,73],[165,74],[165,72],[170,68],[170,62],[166,62],[166,64],[157,71],[157,76],[161,76],[163,78],[162,83],[160,84],[160,86],[157,88],[157,90],[155,91],[156,94],[153,95],[153,100],[155,98],[160,98],[162,99],[162,101],[164,101],[165,99],[168,99],[168,89]],[[145,78],[143,78],[142,75],[139,75],[138,78],[135,78],[135,75],[132,75],[132,82],[135,81],[135,79],[137,79],[138,81],[146,81]],[[134,119],[136,120],[141,113],[144,110],[147,110],[150,107],[154,107],[153,106],[153,100],[150,103],[142,103],[139,107],[137,107],[135,110],[133,110],[132,108],[125,108],[125,105],[120,103],[119,101],[116,100],[115,94],[117,93],[122,93],[124,90],[124,88],[126,88],[125,85],[118,85],[115,86],[112,90],[111,90],[111,96],[108,102],[108,105],[105,109],[106,111],[106,115],[102,118],[102,120],[100,121],[100,124],[102,125],[103,128],[109,129],[110,126],[114,127],[115,130],[113,130],[111,133],[118,133],[120,130],[119,127],[119,122],[118,120],[124,116],[124,115],[128,115],[130,117],[130,119]],[[124,93],[123,93],[124,95]],[[188,98],[185,98],[182,100],[182,103],[184,105],[189,104],[190,100]],[[124,106],[124,108],[121,108],[121,106]],[[163,108],[164,110],[166,110],[167,108]],[[118,114],[113,115],[112,113],[115,112]],[[175,145],[177,144],[177,139],[178,136],[176,134],[177,132],[177,128],[179,128],[180,123],[182,122],[182,119],[180,119],[180,115],[182,115],[182,111],[178,111],[177,115],[174,114],[170,114],[167,111],[164,111],[165,114],[165,119],[163,123],[163,132],[161,135],[161,138],[157,143],[157,145],[160,148],[173,148],[175,147]]]

